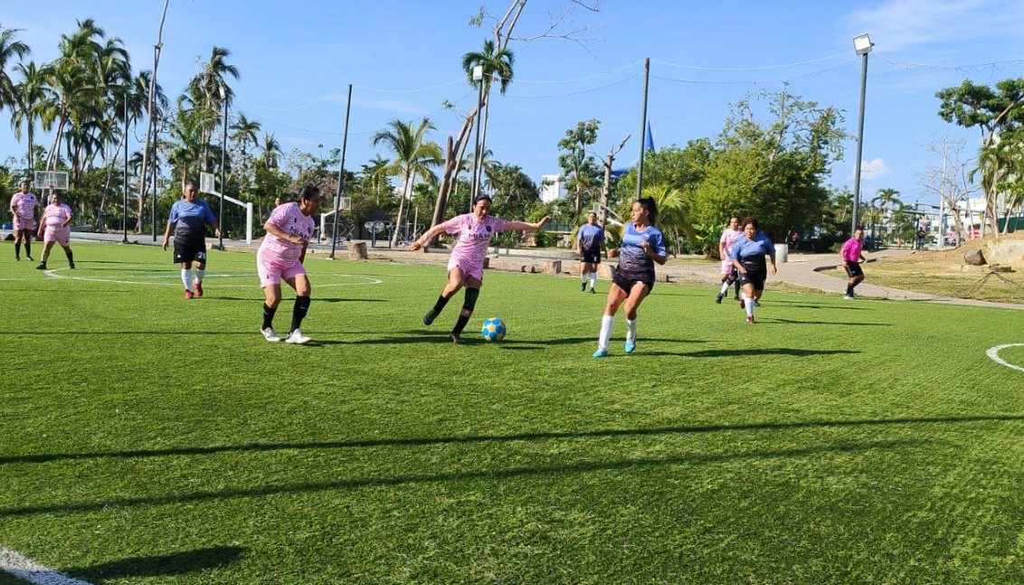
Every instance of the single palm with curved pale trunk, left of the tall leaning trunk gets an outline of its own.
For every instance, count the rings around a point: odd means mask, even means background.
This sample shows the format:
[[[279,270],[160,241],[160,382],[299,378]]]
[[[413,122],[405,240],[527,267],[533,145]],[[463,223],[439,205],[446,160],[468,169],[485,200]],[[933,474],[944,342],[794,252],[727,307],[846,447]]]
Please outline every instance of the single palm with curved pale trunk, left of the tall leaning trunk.
[[[395,217],[395,229],[391,235],[391,245],[398,244],[398,225],[401,224],[406,199],[413,191],[416,175],[424,177],[428,182],[436,182],[432,170],[441,163],[441,149],[435,142],[426,140],[427,132],[434,130],[434,125],[426,118],[417,127],[413,122],[392,120],[388,123],[390,130],[380,130],[371,138],[373,145],[384,147],[394,153],[389,169],[391,174],[401,176],[401,199],[398,201],[398,215]]]

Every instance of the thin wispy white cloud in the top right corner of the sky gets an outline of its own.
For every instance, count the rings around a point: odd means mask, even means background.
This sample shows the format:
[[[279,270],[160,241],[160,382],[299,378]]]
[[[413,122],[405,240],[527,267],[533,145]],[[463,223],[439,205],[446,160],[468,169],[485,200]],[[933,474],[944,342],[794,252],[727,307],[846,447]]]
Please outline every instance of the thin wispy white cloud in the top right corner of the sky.
[[[851,34],[867,32],[880,50],[899,51],[998,36],[1024,35],[1019,0],[888,0],[846,18]]]

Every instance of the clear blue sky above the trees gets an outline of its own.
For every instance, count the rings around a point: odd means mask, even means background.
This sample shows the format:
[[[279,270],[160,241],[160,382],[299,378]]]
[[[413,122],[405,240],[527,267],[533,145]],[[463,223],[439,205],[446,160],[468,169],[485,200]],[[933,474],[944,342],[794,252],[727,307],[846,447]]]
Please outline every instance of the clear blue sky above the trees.
[[[236,108],[273,132],[284,150],[317,153],[341,145],[347,85],[354,86],[346,167],[377,153],[370,135],[394,119],[429,116],[444,142],[475,102],[460,70],[489,28],[469,25],[484,5],[501,14],[510,0],[171,0],[159,80],[176,95],[214,45],[231,51],[241,79]],[[530,0],[517,25],[537,35],[565,0]],[[23,29],[31,58],[56,56],[76,19],[94,18],[124,41],[133,68],[153,68],[162,0],[50,0],[45,10],[5,2],[0,25]],[[601,121],[599,156],[632,139],[615,166],[639,149],[643,59],[651,58],[648,117],[657,147],[718,135],[728,105],[750,92],[794,93],[846,112],[856,129],[860,60],[852,38],[869,33],[863,193],[895,187],[905,201],[927,201],[920,186],[941,165],[929,145],[977,131],[942,122],[936,90],[964,79],[994,83],[1024,77],[1024,0],[884,0],[691,2],[607,0],[600,12],[575,8],[564,25],[583,27],[579,43],[539,39],[512,45],[516,81],[492,105],[488,148],[539,179],[557,172],[557,141],[577,122]],[[564,31],[565,28],[559,29]],[[985,66],[984,64],[999,64]],[[977,67],[968,67],[977,66]],[[454,111],[442,108],[455,102]],[[4,113],[6,119],[7,113]],[[854,143],[838,163],[834,184],[852,185]],[[973,147],[971,147],[973,149]],[[8,130],[0,157],[20,156]],[[382,153],[384,154],[384,153]]]

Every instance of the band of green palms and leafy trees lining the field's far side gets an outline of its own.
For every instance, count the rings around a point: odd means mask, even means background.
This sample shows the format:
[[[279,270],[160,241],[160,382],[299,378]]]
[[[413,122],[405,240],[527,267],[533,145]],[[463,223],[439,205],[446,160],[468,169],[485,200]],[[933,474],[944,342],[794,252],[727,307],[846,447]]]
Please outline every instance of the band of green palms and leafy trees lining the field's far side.
[[[133,68],[121,39],[90,18],[61,35],[59,56],[51,62],[31,59],[22,32],[0,23],[0,112],[24,145],[20,153],[2,154],[0,185],[7,197],[34,171],[67,172],[65,201],[74,207],[81,229],[120,232],[126,225],[148,234],[156,224],[162,231],[183,185],[199,184],[200,173],[209,172],[218,182],[223,173],[224,195],[253,204],[257,236],[275,198],[287,199],[311,183],[345,198],[336,237],[369,238],[365,224],[373,221],[385,227],[378,238],[398,244],[467,211],[473,171],[479,169],[478,190],[493,198],[496,215],[553,217],[556,227],[534,240],[542,246],[568,245],[572,227],[599,204],[628,217],[638,193],[656,200],[658,223],[673,254],[717,254],[718,234],[730,216],[755,215],[776,242],[802,235],[822,250],[851,231],[854,195],[846,186],[826,184],[851,140],[843,129],[844,114],[784,90],[733,103],[717,137],[647,151],[640,190],[636,168],[610,172],[622,147],[600,158],[596,154],[600,121],[580,121],[566,130],[557,144],[560,156],[551,161],[561,167],[569,195],[542,203],[542,185],[514,162],[495,160],[486,149],[492,87],[500,96],[515,80],[510,30],[453,64],[471,86],[474,68],[482,68],[484,81],[480,107],[465,113],[462,129],[445,147],[431,139],[432,121],[393,120],[372,136],[380,153],[355,165],[346,162],[343,177],[339,148],[283,152],[273,133],[233,107],[231,84],[243,72],[230,64],[227,48],[212,47],[196,76],[178,93],[168,94],[152,71]],[[966,81],[937,94],[939,116],[983,129],[986,141],[974,172],[991,205],[989,220],[996,215],[996,201],[1005,213],[1022,205],[1024,158],[1015,155],[1024,139],[1020,95],[1024,80],[1002,81],[995,89]],[[763,112],[770,113],[767,120],[759,119]],[[474,149],[467,145],[477,116],[482,116],[482,147],[480,160],[474,161]],[[144,140],[126,155],[132,135]],[[625,138],[608,141],[625,144]],[[892,238],[911,238],[913,207],[892,189],[862,194],[861,222],[882,225],[881,233]],[[334,197],[326,199],[333,205]],[[239,208],[225,206],[225,237],[244,235],[244,219]],[[616,231],[608,227],[613,244]],[[499,243],[515,245],[520,238],[503,234]]]

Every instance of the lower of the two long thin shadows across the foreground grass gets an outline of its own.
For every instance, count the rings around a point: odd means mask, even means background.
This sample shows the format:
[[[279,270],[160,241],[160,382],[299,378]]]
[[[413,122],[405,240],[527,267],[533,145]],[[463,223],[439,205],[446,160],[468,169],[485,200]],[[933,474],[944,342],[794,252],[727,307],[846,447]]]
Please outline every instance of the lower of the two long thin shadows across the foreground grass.
[[[44,504],[0,508],[0,516],[25,516],[39,513],[72,513],[93,512],[98,510],[114,510],[132,506],[162,506],[190,502],[224,500],[230,498],[260,498],[281,494],[308,494],[315,492],[335,492],[377,488],[383,486],[416,486],[421,484],[439,484],[444,482],[468,482],[482,479],[486,482],[515,479],[518,477],[545,477],[554,475],[580,474],[623,469],[644,469],[673,465],[714,465],[731,461],[754,461],[773,459],[801,459],[825,454],[856,454],[863,452],[899,450],[920,447],[927,442],[914,441],[874,441],[858,443],[837,443],[804,447],[799,449],[779,449],[775,451],[755,451],[740,453],[689,454],[672,457],[638,457],[613,461],[581,461],[557,465],[535,465],[528,467],[487,468],[473,471],[453,471],[446,473],[408,473],[388,477],[368,477],[339,479],[336,482],[304,482],[284,484],[248,489],[225,489],[190,494],[169,494],[165,496],[139,496],[125,498],[109,498],[100,501]]]

